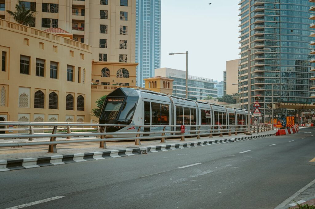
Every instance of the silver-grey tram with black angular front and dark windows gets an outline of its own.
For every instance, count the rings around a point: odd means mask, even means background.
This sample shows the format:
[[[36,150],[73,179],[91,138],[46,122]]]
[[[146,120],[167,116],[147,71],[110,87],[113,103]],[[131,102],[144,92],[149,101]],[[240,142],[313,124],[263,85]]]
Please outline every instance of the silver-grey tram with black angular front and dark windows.
[[[249,113],[250,114],[250,113]],[[180,125],[185,125],[185,134],[196,130],[200,125],[200,133],[212,129],[242,128],[247,125],[248,111],[238,108],[226,108],[221,105],[208,104],[181,97],[161,94],[148,90],[133,88],[117,88],[107,95],[101,110],[100,124],[135,125],[135,127],[107,126],[110,132],[136,132],[136,125],[144,126],[141,132],[180,130]],[[176,129],[170,125],[177,125]],[[204,130],[204,131],[203,131]],[[144,136],[149,136],[145,134]],[[154,136],[154,135],[150,135]],[[161,136],[161,134],[158,134]],[[106,137],[131,137],[129,135],[106,135]],[[135,137],[135,136],[133,136]]]

